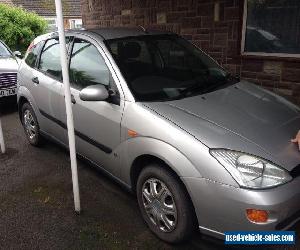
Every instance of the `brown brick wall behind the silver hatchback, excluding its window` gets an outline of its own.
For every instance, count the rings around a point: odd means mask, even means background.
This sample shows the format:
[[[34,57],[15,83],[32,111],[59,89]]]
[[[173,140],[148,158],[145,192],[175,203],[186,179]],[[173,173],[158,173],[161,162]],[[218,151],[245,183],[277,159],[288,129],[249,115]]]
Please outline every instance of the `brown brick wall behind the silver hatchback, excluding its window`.
[[[241,57],[243,0],[81,0],[86,28],[138,26],[183,35],[233,74],[300,105],[300,60]]]

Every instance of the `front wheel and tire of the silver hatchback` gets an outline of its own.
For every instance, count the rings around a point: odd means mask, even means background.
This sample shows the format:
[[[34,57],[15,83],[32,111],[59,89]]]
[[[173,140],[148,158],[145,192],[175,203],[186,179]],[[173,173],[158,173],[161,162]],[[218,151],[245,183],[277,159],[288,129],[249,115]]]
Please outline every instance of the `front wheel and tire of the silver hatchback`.
[[[195,231],[197,219],[189,195],[180,179],[163,164],[142,170],[136,192],[144,220],[163,241],[179,243]]]

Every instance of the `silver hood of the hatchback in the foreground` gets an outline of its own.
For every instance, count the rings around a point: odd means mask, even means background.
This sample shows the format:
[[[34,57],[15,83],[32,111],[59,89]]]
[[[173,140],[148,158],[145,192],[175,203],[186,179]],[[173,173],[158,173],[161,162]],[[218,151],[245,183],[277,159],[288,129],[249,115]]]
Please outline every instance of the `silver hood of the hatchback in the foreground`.
[[[254,84],[242,81],[200,96],[143,105],[209,148],[267,157],[287,170],[300,163],[300,152],[291,143],[300,129],[300,109]]]

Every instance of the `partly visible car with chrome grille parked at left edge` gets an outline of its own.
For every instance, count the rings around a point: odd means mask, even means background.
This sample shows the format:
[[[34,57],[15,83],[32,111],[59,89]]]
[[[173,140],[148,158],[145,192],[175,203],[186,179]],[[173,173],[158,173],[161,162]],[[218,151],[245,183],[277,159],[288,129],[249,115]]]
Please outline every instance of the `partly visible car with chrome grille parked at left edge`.
[[[16,96],[19,51],[12,53],[0,40],[0,101],[9,96]]]

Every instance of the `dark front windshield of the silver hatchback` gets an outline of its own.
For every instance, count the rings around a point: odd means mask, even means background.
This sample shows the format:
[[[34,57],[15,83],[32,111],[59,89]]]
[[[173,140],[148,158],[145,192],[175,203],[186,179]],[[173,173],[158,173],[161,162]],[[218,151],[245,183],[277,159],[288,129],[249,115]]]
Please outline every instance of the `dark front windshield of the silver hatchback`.
[[[169,101],[236,82],[200,49],[177,35],[106,40],[137,101]]]

